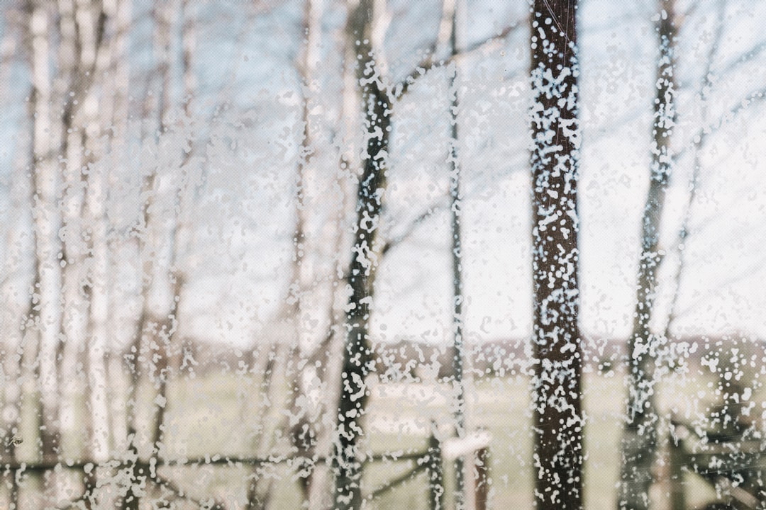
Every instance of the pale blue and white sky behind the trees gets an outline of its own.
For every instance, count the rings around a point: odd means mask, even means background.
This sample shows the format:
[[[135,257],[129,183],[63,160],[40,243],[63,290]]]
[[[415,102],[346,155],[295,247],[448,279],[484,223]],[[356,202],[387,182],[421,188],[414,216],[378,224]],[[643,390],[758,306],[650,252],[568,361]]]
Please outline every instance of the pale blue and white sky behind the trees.
[[[508,23],[525,23],[524,2],[515,5],[516,11],[501,11],[496,2],[469,3],[465,44],[481,41]],[[679,266],[675,245],[689,196],[691,141],[701,126],[715,125],[751,90],[766,83],[758,51],[751,62],[732,66],[743,49],[759,47],[755,28],[766,14],[761,12],[764,2],[726,2],[723,15],[712,2],[694,9],[690,2],[679,3],[682,11],[689,10],[679,36],[679,117],[673,139],[673,148],[683,156],[673,170],[663,219],[662,244],[668,255],[660,274],[658,330],[664,329]],[[353,155],[359,148],[358,136],[343,136],[347,119],[342,119],[337,101],[342,11],[329,0],[323,5],[321,58],[312,96],[316,155],[309,168],[306,202],[313,214],[313,255],[307,264],[317,274],[316,291],[306,297],[306,303],[313,304],[306,324],[316,331],[322,330],[330,275],[337,271],[332,258],[339,245],[332,240],[332,226],[340,224],[334,216],[341,196],[338,186],[353,193],[352,181],[338,178],[338,155]],[[418,50],[433,40],[438,5],[389,2],[386,57],[394,78],[404,76],[404,70],[420,60]],[[640,213],[650,161],[656,53],[652,9],[653,2],[581,2],[581,328],[590,336],[624,338],[632,324]],[[132,46],[137,56],[134,73],[141,76],[146,73],[141,62],[148,68],[152,58],[147,43],[152,40],[151,26],[146,13],[134,15],[144,20]],[[296,43],[302,37],[303,12],[300,2],[266,2],[262,11],[243,15],[241,2],[221,2],[195,5],[192,15],[199,20],[194,126],[173,135],[180,138],[165,136],[157,148],[130,150],[144,151],[147,161],[159,161],[164,147],[182,144],[183,133],[202,142],[195,149],[195,168],[204,187],[191,208],[195,233],[182,262],[191,275],[186,311],[182,310],[187,315],[184,333],[247,346],[260,336],[276,334],[273,318],[289,284],[301,100],[293,61],[300,56]],[[715,51],[709,99],[701,101],[699,83],[720,20],[726,23],[725,35]],[[525,28],[520,28],[505,44],[490,45],[461,61],[457,70],[465,323],[470,341],[521,338],[532,330],[526,37]],[[0,199],[4,215],[23,223],[23,208],[13,208],[8,200],[11,177],[18,179],[24,165],[24,112],[18,102],[25,96],[18,85],[25,83],[23,65],[14,67],[10,76],[14,80],[3,96],[8,115],[0,124],[6,169]],[[175,89],[179,96],[180,76],[175,76]],[[140,99],[143,91],[136,85],[132,92]],[[439,205],[448,184],[448,93],[447,71],[434,70],[394,105],[383,228],[396,236],[429,206],[435,205],[436,212],[381,265],[372,330],[382,341],[404,337],[444,343],[450,337],[449,223]],[[677,304],[682,313],[674,329],[679,335],[744,330],[766,338],[766,314],[760,311],[766,308],[760,252],[766,242],[766,183],[759,171],[766,129],[762,108],[756,101],[715,128],[700,151],[699,186],[683,250]],[[11,168],[16,169],[13,174]],[[175,178],[168,177],[169,188]],[[343,225],[347,239],[349,226]],[[348,243],[340,245],[349,252]],[[124,278],[129,279],[131,267],[123,266]]]

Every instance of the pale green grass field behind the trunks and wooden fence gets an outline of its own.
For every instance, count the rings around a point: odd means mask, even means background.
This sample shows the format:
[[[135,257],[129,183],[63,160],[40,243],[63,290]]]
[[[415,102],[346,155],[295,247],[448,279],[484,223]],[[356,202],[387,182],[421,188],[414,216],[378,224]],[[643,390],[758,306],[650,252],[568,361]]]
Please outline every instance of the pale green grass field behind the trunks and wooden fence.
[[[710,378],[669,375],[661,382],[663,414],[673,410],[679,416],[701,417],[714,397]],[[284,451],[289,441],[281,435],[286,419],[282,402],[285,394],[261,391],[252,375],[232,372],[208,373],[197,378],[182,377],[170,385],[165,427],[165,455],[169,458],[214,456],[264,456]],[[139,408],[151,409],[152,392],[144,388]],[[436,382],[372,382],[363,447],[369,452],[422,451],[431,424],[450,434],[452,385]],[[585,502],[592,510],[615,507],[620,461],[620,432],[624,414],[623,376],[589,372],[584,375]],[[529,411],[529,380],[525,376],[484,378],[467,386],[467,420],[470,429],[491,434],[490,508],[532,508],[532,434]],[[145,429],[150,414],[139,416]],[[29,447],[29,445],[24,445]],[[23,453],[23,452],[22,452]],[[364,491],[385,485],[412,466],[408,462],[372,463],[365,468]],[[170,479],[195,497],[214,495],[228,502],[228,509],[244,508],[251,468],[236,466],[179,466],[162,468]],[[296,476],[280,465],[259,473],[272,485],[271,508],[300,508],[301,495]],[[445,485],[451,501],[452,476],[447,466]],[[692,508],[715,494],[693,476],[688,476]],[[654,498],[658,510],[666,508],[666,487],[657,484]],[[427,508],[424,474],[405,482],[368,508]],[[192,507],[189,507],[192,508]]]

